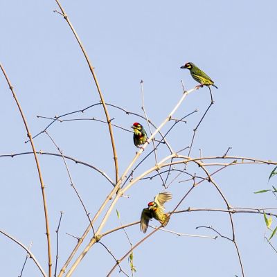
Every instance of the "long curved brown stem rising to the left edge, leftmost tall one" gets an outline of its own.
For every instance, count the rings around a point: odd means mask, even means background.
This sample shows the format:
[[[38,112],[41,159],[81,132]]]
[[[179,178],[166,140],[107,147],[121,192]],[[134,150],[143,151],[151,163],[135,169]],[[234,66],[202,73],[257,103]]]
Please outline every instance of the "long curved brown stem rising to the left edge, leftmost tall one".
[[[0,67],[1,67],[1,71],[3,72],[3,75],[6,78],[6,81],[8,82],[8,86],[10,88],[10,91],[12,92],[12,96],[15,99],[15,102],[17,103],[17,107],[18,107],[19,112],[21,114],[21,118],[24,122],[25,129],[26,129],[26,132],[27,132],[27,136],[28,136],[28,139],[30,139],[30,144],[32,146],[33,154],[34,154],[34,157],[35,157],[35,163],[36,163],[37,172],[38,172],[38,175],[39,175],[40,186],[42,188],[42,199],[43,199],[43,205],[44,205],[44,218],[45,218],[45,224],[46,224],[46,239],[47,239],[47,247],[48,247],[48,276],[51,277],[52,276],[51,236],[50,236],[50,228],[49,228],[49,222],[48,222],[48,209],[47,209],[47,202],[46,202],[46,193],[45,193],[45,190],[44,190],[45,186],[44,186],[44,181],[42,179],[42,172],[41,172],[40,166],[39,166],[39,159],[37,158],[37,151],[35,150],[35,144],[33,142],[32,135],[30,134],[30,130],[29,130],[29,127],[28,127],[27,120],[24,116],[23,109],[21,109],[21,105],[19,104],[19,100],[17,99],[17,95],[15,94],[15,91],[12,87],[10,79],[8,78],[8,75],[5,71],[5,69],[3,68],[2,64],[0,64]]]

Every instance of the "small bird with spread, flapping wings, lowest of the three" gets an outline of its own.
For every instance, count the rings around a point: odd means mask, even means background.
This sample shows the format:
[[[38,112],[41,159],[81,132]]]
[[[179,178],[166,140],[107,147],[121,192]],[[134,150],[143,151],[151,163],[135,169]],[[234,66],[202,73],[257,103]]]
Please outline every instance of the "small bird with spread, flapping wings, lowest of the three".
[[[151,220],[153,217],[155,220],[158,220],[163,225],[163,227],[168,224],[169,216],[164,213],[163,204],[165,204],[170,199],[172,199],[171,193],[159,193],[155,196],[154,202],[148,203],[148,208],[143,208],[141,213],[141,231],[143,231],[143,233],[146,233],[149,220]]]

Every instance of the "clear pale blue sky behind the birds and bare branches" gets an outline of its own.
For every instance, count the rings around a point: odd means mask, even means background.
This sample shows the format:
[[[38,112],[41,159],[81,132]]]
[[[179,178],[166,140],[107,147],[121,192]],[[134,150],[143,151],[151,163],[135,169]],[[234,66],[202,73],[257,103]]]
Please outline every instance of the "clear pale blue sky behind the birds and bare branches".
[[[108,103],[143,114],[141,85],[143,80],[145,109],[149,118],[159,125],[181,98],[181,82],[191,89],[196,82],[185,69],[184,62],[194,62],[213,78],[219,89],[213,89],[215,105],[200,125],[192,157],[229,154],[276,159],[276,1],[63,1],[73,26],[82,39],[100,87]],[[55,1],[5,1],[0,6],[1,63],[15,87],[33,135],[40,132],[53,117],[83,109],[99,102],[96,87],[69,26],[54,13]],[[3,75],[0,77],[2,126],[1,154],[30,151],[26,130],[15,107]],[[168,140],[175,150],[190,144],[193,128],[208,107],[207,88],[191,93],[175,115],[180,118],[195,109],[197,113],[180,123]],[[114,124],[126,129],[136,116],[127,116],[109,108]],[[104,119],[102,107],[89,109],[84,114],[69,118]],[[163,129],[163,132],[171,123]],[[48,129],[55,142],[75,159],[86,161],[114,178],[114,163],[107,126],[96,121],[55,123]],[[149,131],[148,131],[149,133]],[[134,157],[136,149],[132,134],[114,129],[120,173]],[[35,139],[37,150],[57,152],[45,134]],[[150,151],[150,146],[143,156]],[[161,147],[159,159],[168,154]],[[187,153],[184,153],[187,154]],[[55,229],[59,212],[64,211],[60,227],[59,267],[75,245],[66,233],[82,235],[87,217],[69,185],[62,159],[39,156],[46,183],[48,209],[55,249]],[[137,172],[154,165],[148,159]],[[88,211],[93,214],[111,190],[111,185],[97,172],[69,162],[75,186]],[[271,188],[274,179],[267,179],[273,166],[233,166],[215,176],[231,206],[274,207],[276,199],[267,193],[254,195],[256,190]],[[196,167],[189,172],[200,173]],[[31,155],[0,159],[0,229],[14,235],[28,245],[47,269],[46,238],[42,196]],[[203,173],[202,173],[203,174]],[[136,175],[137,176],[137,175]],[[181,178],[182,179],[182,178]],[[178,181],[181,181],[179,179]],[[188,182],[176,181],[170,187],[175,207],[178,199],[190,187]],[[163,190],[159,178],[140,181],[129,190],[128,199],[120,199],[116,208],[124,223],[139,220],[141,210],[154,195]],[[193,191],[181,208],[226,208],[209,183]],[[274,219],[275,220],[275,219]],[[266,231],[262,215],[234,215],[242,262],[246,276],[265,276],[272,272],[276,253],[264,240]],[[155,224],[156,222],[152,222]],[[99,222],[96,222],[99,224]],[[120,224],[116,212],[111,214],[105,230]],[[273,225],[276,226],[274,221]],[[213,226],[224,235],[231,235],[227,214],[195,212],[176,215],[168,229],[180,233],[214,235],[196,226]],[[133,243],[143,234],[139,226],[127,229]],[[90,236],[91,238],[91,236]],[[276,238],[272,239],[273,244]],[[89,238],[84,244],[87,244]],[[123,232],[102,240],[120,258],[129,249]],[[18,276],[25,253],[17,245],[0,236],[1,271],[5,276]],[[109,253],[96,245],[84,258],[75,276],[105,276],[114,265]],[[218,238],[177,237],[156,233],[148,242],[134,251],[136,276],[242,276],[233,244]],[[127,262],[123,268],[129,270]],[[28,260],[26,276],[39,276],[37,268]],[[23,275],[23,276],[24,276]],[[114,276],[120,276],[114,271]],[[74,276],[74,274],[73,274]]]

